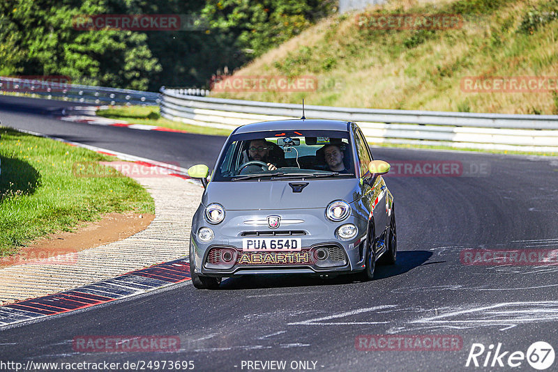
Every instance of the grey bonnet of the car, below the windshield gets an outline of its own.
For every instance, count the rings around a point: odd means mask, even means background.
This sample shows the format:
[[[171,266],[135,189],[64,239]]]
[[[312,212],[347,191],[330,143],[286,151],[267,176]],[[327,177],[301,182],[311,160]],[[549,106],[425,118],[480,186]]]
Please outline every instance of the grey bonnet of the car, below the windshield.
[[[211,182],[202,203],[220,203],[225,210],[326,208],[334,200],[351,203],[359,192],[356,178]]]

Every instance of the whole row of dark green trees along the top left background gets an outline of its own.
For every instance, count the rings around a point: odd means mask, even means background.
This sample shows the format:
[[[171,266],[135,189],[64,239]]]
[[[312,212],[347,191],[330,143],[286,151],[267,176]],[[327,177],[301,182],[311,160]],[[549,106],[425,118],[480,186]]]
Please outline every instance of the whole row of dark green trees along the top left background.
[[[208,86],[335,10],[335,0],[2,0],[0,75],[65,75],[73,82],[156,91]],[[206,29],[89,30],[82,15],[172,14]]]

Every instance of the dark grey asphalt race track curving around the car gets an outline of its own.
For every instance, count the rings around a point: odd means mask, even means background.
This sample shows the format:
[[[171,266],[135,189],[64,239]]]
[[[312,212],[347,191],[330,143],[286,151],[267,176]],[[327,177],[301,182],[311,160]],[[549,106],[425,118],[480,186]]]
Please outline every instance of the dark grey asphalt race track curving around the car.
[[[213,165],[225,140],[68,123],[31,109],[61,104],[47,102],[10,98],[7,107],[0,97],[1,124],[181,166]],[[196,371],[255,371],[246,362],[256,360],[286,361],[285,371],[535,371],[525,359],[512,369],[508,357],[527,352],[535,341],[557,350],[558,266],[464,265],[460,257],[466,249],[556,249],[558,160],[372,151],[376,159],[392,163],[444,160],[488,164],[489,170],[483,176],[386,177],[395,196],[398,263],[377,268],[374,281],[246,277],[227,279],[219,290],[177,284],[0,329],[0,360],[121,365],[193,360]],[[381,334],[455,335],[462,346],[453,351],[357,350],[359,335]],[[170,353],[73,349],[77,336],[140,335],[179,336],[180,348]],[[465,366],[473,343],[487,348],[478,368]],[[500,354],[508,351],[504,367],[497,361],[490,366],[492,357],[483,367],[490,344],[498,343]],[[310,369],[292,369],[291,363],[299,361],[310,361]],[[558,361],[548,371],[557,369]]]

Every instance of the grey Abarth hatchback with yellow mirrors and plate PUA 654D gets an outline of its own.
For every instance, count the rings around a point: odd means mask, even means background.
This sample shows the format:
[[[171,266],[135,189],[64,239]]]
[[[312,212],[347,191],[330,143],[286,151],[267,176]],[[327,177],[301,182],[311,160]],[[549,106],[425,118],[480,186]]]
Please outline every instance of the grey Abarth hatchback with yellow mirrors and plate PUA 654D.
[[[356,123],[268,121],[230,134],[209,168],[188,169],[205,192],[190,237],[196,288],[254,274],[349,274],[393,264],[393,196]]]

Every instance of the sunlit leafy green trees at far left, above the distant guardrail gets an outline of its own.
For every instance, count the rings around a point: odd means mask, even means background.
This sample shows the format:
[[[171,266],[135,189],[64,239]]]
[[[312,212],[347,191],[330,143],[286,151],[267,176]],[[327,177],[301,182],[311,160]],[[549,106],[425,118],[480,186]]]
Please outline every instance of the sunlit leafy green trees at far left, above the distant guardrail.
[[[80,31],[80,15],[109,13],[105,0],[7,0],[0,4],[0,70],[13,75],[65,75],[73,82],[145,89],[161,70],[133,31]],[[6,56],[6,48],[15,54]],[[4,51],[4,52],[2,52]]]

